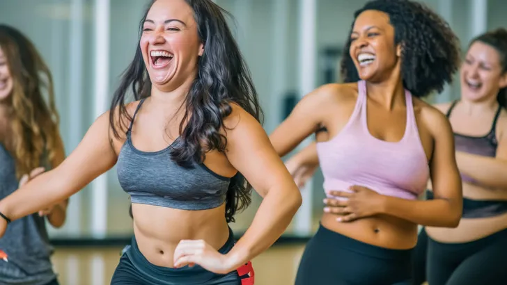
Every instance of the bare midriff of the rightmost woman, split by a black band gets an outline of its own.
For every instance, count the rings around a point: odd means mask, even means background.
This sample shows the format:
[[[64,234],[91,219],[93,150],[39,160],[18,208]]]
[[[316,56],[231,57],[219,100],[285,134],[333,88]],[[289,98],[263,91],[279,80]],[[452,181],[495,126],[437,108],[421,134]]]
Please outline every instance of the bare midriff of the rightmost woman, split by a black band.
[[[463,183],[463,197],[476,200],[507,200],[506,190],[492,190]],[[442,243],[467,243],[507,228],[507,213],[489,218],[462,218],[456,228],[426,227],[433,240]]]

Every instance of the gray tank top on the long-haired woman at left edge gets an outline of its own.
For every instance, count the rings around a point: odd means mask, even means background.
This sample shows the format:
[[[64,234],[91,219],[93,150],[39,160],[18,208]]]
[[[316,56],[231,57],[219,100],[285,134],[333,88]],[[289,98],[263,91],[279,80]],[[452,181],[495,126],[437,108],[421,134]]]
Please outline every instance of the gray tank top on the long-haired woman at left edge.
[[[46,166],[46,165],[44,165]],[[19,181],[15,161],[0,143],[0,199],[13,193]],[[43,285],[56,279],[45,218],[35,213],[11,222],[0,238],[0,250],[8,262],[0,260],[0,284]]]

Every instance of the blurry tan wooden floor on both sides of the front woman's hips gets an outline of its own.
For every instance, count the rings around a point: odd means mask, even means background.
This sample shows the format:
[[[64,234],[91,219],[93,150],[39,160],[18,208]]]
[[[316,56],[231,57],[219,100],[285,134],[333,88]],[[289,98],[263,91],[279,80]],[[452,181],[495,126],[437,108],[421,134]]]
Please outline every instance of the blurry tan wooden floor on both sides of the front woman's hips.
[[[293,285],[304,245],[274,245],[256,259],[256,285]],[[53,257],[61,285],[109,285],[120,247],[56,248]]]

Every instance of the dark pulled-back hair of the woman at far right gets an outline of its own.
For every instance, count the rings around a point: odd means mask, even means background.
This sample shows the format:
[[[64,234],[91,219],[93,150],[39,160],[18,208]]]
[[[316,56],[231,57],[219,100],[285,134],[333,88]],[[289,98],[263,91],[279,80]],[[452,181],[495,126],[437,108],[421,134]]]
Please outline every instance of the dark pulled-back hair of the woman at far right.
[[[507,72],[507,30],[504,28],[499,28],[494,31],[489,31],[487,33],[483,33],[482,35],[478,35],[476,38],[471,40],[469,47],[474,44],[474,42],[483,42],[484,44],[489,45],[496,49],[500,55],[500,65],[502,68],[502,73]],[[497,95],[497,100],[500,106],[507,108],[507,88],[501,88]]]

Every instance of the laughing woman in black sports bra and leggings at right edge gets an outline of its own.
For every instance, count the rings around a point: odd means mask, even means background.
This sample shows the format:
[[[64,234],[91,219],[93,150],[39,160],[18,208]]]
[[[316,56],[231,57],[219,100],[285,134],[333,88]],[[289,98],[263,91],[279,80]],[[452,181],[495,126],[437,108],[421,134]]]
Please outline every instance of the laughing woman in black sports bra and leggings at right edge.
[[[436,108],[454,131],[462,219],[457,228],[422,229],[414,254],[416,285],[507,284],[506,29],[471,41],[460,81],[460,101]]]

